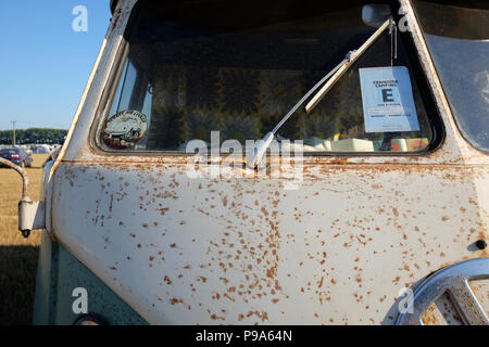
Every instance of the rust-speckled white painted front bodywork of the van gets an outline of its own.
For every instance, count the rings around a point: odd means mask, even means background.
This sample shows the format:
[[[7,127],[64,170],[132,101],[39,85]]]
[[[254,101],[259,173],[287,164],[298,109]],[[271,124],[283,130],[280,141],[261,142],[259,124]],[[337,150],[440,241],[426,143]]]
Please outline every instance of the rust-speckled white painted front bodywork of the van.
[[[468,246],[488,236],[489,156],[462,138],[417,25],[442,145],[305,156],[301,188],[285,190],[285,179],[253,175],[189,179],[184,156],[95,149],[90,129],[136,1],[120,2],[50,172],[47,229],[147,321],[389,323],[402,288],[488,257]]]

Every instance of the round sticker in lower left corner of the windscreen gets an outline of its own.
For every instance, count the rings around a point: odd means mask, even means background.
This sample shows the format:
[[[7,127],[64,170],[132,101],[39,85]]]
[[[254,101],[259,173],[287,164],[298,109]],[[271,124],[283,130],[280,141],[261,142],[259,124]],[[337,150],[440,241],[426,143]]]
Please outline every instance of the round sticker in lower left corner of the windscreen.
[[[124,110],[105,120],[103,143],[113,150],[125,150],[141,141],[147,129],[148,119],[142,113]]]

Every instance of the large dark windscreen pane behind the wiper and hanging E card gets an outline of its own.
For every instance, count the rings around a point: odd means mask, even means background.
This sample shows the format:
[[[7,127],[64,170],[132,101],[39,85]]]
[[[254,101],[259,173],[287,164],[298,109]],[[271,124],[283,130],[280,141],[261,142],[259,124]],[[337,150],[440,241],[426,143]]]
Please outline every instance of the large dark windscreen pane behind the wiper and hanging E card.
[[[362,22],[365,3],[139,1],[100,142],[110,150],[184,151],[193,139],[210,143],[211,130],[220,131],[221,142],[261,139],[376,30]],[[299,108],[276,138],[303,140],[306,153],[426,149],[432,125],[402,40],[397,41],[393,64],[410,82],[415,126],[365,128],[359,69],[391,66],[386,30],[312,112]],[[384,98],[396,99],[391,91]]]

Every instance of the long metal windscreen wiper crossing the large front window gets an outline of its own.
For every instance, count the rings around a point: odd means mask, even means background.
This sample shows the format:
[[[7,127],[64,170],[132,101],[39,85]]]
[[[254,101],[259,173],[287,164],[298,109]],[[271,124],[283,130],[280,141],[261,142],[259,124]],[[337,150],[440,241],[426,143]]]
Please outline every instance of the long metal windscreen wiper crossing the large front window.
[[[326,76],[324,76],[313,88],[311,88],[304,97],[292,107],[290,111],[280,119],[280,121],[275,126],[275,128],[267,132],[265,137],[258,141],[251,152],[247,155],[247,165],[254,169],[262,162],[263,155],[266,149],[272,143],[275,133],[278,129],[290,118],[290,116],[308,100],[311,94],[316,91],[317,88],[323,86],[323,88],[314,95],[313,99],[305,106],[305,112],[311,112],[315,105],[323,99],[323,97],[331,89],[331,87],[338,81],[338,79],[347,72],[347,69],[353,65],[353,63],[377,40],[377,38],[386,30],[388,27],[392,27],[393,20],[390,17],[387,20],[358,50],[348,52],[347,56],[335,66]]]

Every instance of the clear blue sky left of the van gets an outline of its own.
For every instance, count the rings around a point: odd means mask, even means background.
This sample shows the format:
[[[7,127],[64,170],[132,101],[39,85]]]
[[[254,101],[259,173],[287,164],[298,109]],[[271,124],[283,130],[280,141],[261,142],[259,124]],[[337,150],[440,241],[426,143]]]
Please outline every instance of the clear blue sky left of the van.
[[[0,130],[70,128],[110,17],[109,0],[0,0]]]

